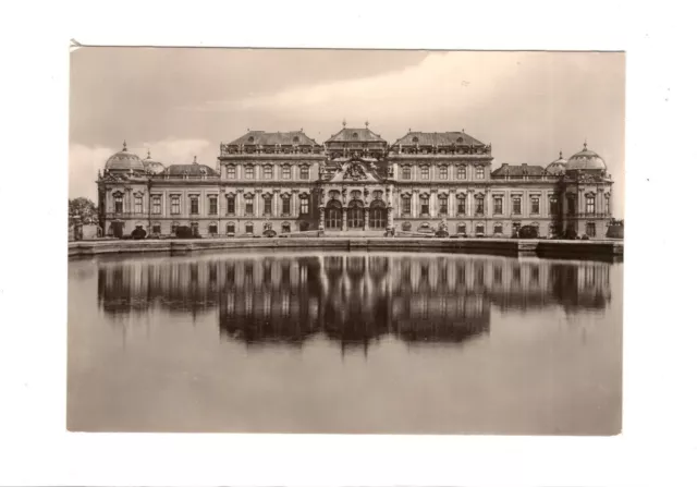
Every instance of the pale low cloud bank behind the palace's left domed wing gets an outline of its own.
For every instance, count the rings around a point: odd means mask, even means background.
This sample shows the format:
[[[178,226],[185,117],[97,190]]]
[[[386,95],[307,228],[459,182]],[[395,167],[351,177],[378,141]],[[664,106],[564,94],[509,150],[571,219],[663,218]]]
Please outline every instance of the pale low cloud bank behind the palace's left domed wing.
[[[129,145],[129,150],[143,159],[147,157],[148,148],[152,159],[164,166],[188,163],[194,160],[194,156],[197,156],[199,162],[216,167],[216,153],[209,141],[169,137],[162,141],[139,143],[136,146]],[[107,159],[118,150],[121,150],[121,147],[89,147],[83,144],[71,144],[69,196],[71,198],[85,196],[96,202],[97,172],[103,170]],[[213,160],[212,165],[211,160]]]

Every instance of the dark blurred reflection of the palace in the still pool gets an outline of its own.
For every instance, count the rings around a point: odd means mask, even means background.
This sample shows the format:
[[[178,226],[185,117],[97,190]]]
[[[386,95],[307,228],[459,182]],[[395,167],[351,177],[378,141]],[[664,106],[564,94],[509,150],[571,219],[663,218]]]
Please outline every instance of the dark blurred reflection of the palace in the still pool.
[[[482,256],[264,255],[101,263],[107,315],[217,309],[222,336],[299,346],[322,333],[342,346],[386,336],[460,343],[488,333],[491,306],[604,309],[610,264]]]

